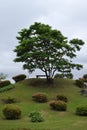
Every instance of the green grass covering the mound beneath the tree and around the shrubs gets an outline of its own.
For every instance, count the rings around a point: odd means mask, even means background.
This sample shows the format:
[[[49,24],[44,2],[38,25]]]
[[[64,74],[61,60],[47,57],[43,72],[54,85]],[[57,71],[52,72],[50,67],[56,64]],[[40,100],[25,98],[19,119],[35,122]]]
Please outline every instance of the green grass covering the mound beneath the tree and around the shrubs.
[[[57,79],[49,85],[46,84],[45,79],[29,79],[16,83],[14,86],[14,89],[0,93],[0,130],[87,130],[87,117],[75,115],[76,107],[87,104],[87,98],[80,95],[80,88],[75,86],[73,80]],[[56,99],[58,93],[66,95],[69,100],[67,111],[53,111],[50,109],[49,102],[35,103],[32,101],[32,95],[36,92],[47,93],[49,101]],[[4,119],[2,114],[4,104],[1,99],[8,96],[18,100],[16,104],[22,110],[21,119]],[[28,115],[32,111],[39,111],[45,121],[30,122]]]

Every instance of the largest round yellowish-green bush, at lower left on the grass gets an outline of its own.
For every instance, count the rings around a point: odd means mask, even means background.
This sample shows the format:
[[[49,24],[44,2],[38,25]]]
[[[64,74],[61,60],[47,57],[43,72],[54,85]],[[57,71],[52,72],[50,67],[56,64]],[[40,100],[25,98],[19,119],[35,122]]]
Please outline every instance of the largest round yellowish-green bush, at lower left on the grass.
[[[17,105],[8,104],[4,107],[3,114],[8,120],[19,119],[21,117],[21,110]]]

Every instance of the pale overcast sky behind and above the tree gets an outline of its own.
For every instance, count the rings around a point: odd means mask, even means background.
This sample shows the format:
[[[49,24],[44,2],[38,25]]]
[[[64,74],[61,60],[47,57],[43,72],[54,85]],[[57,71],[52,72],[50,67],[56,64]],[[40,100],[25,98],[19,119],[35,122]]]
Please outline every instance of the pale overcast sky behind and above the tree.
[[[21,63],[13,62],[13,50],[18,32],[34,22],[49,24],[69,39],[82,39],[85,45],[74,61],[84,68],[73,73],[75,78],[87,73],[87,0],[0,0],[0,72],[7,78],[28,74]]]

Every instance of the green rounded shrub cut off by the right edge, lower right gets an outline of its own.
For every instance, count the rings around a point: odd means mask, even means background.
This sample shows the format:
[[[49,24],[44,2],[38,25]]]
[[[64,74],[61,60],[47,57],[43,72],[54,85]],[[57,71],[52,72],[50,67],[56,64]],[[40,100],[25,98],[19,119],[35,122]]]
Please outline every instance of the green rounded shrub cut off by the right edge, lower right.
[[[87,116],[87,105],[77,107],[76,114],[80,116]]]

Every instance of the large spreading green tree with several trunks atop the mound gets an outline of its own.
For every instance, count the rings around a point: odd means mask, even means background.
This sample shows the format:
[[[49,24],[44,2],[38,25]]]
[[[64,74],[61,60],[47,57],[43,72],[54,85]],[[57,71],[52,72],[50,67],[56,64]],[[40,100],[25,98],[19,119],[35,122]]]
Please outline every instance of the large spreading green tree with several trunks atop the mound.
[[[38,22],[18,34],[19,45],[14,50],[17,54],[14,61],[23,62],[23,68],[29,72],[40,69],[49,80],[55,72],[82,68],[82,65],[72,62],[84,44],[81,39],[68,41],[59,30]]]

